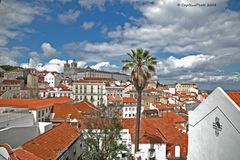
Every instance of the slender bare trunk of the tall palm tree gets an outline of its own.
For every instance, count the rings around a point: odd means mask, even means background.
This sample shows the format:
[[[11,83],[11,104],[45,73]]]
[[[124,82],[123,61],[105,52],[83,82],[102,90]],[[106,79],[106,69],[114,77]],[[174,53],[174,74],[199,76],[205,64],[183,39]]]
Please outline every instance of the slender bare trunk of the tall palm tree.
[[[136,115],[136,129],[135,129],[135,153],[139,151],[139,136],[140,136],[140,119],[142,106],[142,91],[138,91],[137,98],[137,115]]]

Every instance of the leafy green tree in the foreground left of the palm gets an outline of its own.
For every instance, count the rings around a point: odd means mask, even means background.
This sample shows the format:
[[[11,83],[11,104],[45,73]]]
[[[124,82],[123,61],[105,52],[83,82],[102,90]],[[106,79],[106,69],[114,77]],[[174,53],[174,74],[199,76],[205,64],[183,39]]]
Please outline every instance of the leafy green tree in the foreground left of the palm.
[[[107,117],[106,109],[94,117],[84,120],[86,129],[82,129],[83,160],[112,160],[121,154],[131,160],[130,151],[121,143],[122,125],[118,117]]]

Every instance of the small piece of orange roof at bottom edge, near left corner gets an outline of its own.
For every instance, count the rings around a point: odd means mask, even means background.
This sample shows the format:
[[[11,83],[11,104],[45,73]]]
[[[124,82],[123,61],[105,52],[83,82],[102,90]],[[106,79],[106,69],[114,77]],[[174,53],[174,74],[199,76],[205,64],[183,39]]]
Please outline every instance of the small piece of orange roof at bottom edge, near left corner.
[[[28,152],[26,150],[23,149],[17,149],[14,151],[16,157],[18,160],[43,160],[42,158],[34,155],[31,152]]]

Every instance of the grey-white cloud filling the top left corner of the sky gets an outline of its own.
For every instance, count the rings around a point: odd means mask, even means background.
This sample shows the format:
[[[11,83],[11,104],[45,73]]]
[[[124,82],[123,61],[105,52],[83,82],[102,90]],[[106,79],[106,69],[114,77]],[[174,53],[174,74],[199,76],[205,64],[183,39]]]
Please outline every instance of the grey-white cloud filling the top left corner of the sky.
[[[24,28],[19,27],[31,23],[36,16],[43,16],[47,9],[35,3],[16,0],[2,1],[0,6],[0,46],[8,43],[9,39],[24,36]]]

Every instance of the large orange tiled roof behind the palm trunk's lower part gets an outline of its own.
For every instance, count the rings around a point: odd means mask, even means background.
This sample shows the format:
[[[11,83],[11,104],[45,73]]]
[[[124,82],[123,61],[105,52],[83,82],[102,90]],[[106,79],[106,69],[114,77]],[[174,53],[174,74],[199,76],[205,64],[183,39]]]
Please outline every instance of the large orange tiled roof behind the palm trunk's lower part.
[[[135,142],[135,119],[122,119],[123,128],[129,129],[132,143]],[[188,136],[178,131],[171,120],[163,118],[142,118],[140,144],[167,144],[167,151],[173,153],[175,145],[180,145],[181,155],[187,156]]]

